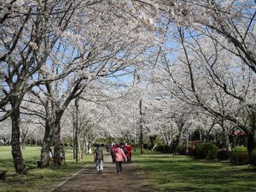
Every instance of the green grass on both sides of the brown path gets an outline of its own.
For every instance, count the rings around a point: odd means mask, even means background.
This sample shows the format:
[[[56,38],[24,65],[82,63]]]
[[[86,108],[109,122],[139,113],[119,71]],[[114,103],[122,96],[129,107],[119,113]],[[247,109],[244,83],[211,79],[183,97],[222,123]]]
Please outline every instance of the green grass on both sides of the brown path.
[[[67,164],[59,168],[50,166],[38,169],[39,147],[26,147],[22,154],[28,167],[27,175],[15,173],[10,147],[0,147],[0,169],[7,169],[5,183],[0,183],[0,191],[50,191],[56,184],[77,172],[82,166],[92,162],[92,155],[76,164],[73,151],[66,152]],[[248,166],[231,166],[227,161],[193,160],[189,157],[171,154],[143,155],[137,150],[133,160],[142,176],[143,183],[154,191],[256,191],[256,172]]]

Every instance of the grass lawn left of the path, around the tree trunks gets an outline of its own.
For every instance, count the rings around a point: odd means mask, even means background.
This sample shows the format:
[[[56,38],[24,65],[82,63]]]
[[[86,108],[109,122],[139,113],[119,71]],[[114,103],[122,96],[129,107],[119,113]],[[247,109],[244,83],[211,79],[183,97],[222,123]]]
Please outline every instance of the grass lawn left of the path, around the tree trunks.
[[[37,161],[40,160],[40,147],[26,147],[22,150],[23,159],[28,168],[27,175],[15,173],[11,147],[0,146],[0,169],[6,169],[7,177],[5,183],[0,183],[0,191],[50,191],[56,184],[61,183],[68,176],[77,172],[82,166],[93,161],[92,155],[87,155],[83,160],[75,163],[73,160],[73,150],[67,149],[66,165],[58,168],[50,165],[49,168],[37,168]]]

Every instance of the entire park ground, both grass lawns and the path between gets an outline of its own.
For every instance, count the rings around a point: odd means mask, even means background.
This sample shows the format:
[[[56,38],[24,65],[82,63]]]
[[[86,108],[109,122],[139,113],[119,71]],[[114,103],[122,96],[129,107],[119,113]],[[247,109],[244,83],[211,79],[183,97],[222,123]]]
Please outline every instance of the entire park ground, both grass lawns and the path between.
[[[118,175],[109,154],[104,172],[97,174],[92,155],[78,163],[67,150],[66,165],[38,169],[40,148],[23,150],[27,175],[15,174],[9,147],[0,147],[0,169],[7,169],[0,191],[256,191],[256,172],[249,166],[231,166],[228,161],[193,160],[172,154],[133,154]]]

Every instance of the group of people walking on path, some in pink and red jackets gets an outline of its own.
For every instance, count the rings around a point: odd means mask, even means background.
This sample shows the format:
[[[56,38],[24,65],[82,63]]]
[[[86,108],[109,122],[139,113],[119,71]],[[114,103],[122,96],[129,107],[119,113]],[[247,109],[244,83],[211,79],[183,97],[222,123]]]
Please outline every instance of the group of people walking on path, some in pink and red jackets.
[[[107,150],[109,151],[109,150]],[[110,148],[110,153],[112,156],[113,163],[116,164],[116,171],[118,174],[123,172],[122,164],[127,162],[131,163],[131,145],[129,143],[112,144]],[[96,149],[94,151],[94,161],[96,163],[96,171],[98,173],[103,172],[103,150],[100,144],[96,144]]]

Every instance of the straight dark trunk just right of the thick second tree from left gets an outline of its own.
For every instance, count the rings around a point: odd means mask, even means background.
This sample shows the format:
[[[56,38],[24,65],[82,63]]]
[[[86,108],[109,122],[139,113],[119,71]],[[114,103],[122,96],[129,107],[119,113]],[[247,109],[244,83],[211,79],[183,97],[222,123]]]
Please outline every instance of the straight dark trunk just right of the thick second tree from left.
[[[55,127],[55,154],[54,154],[54,164],[55,166],[61,166],[61,124],[60,122]]]

